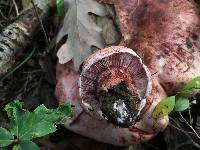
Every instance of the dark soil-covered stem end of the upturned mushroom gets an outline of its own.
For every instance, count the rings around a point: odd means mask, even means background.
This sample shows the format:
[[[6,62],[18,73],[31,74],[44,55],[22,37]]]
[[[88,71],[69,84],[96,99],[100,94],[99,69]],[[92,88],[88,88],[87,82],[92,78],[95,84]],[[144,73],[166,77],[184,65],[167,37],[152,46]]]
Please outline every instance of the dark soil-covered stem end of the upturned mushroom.
[[[103,116],[119,127],[130,127],[137,122],[140,99],[130,92],[127,81],[98,92]]]

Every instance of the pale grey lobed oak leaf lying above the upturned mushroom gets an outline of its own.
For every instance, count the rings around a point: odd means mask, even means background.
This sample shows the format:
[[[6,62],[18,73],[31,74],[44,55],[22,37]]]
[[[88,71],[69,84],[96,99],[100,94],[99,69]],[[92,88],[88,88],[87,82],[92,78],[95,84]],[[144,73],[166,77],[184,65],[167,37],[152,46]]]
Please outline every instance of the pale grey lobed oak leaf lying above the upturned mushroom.
[[[90,55],[91,46],[104,47],[101,28],[93,22],[89,13],[105,16],[106,9],[95,0],[65,0],[65,4],[68,10],[57,41],[65,35],[68,35],[68,39],[57,55],[61,64],[73,59],[78,70],[81,63]]]

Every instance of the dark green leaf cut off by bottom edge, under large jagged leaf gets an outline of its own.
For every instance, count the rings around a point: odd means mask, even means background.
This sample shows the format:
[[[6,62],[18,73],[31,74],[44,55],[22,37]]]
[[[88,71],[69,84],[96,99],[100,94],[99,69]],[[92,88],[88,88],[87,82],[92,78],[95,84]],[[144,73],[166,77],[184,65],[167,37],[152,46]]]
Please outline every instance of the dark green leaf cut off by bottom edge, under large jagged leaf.
[[[13,150],[40,150],[40,148],[32,141],[22,141],[20,144],[15,145]]]

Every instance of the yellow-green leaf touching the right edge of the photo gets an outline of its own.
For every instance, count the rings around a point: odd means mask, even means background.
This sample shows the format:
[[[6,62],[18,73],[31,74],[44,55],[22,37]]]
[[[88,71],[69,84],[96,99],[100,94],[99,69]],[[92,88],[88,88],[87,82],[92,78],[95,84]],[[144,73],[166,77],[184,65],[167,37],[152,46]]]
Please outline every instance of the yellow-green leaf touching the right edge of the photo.
[[[200,76],[190,80],[180,91],[180,95],[188,97],[192,94],[193,89],[200,89]]]

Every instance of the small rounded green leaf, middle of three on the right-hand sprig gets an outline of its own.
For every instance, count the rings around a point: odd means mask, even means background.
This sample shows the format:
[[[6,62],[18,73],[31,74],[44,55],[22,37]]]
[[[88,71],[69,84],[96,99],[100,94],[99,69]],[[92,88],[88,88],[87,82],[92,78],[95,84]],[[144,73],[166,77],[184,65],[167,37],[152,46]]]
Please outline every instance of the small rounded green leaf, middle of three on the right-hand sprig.
[[[174,106],[174,110],[173,111],[184,111],[186,110],[188,107],[190,106],[190,102],[188,98],[184,98],[184,97],[178,97],[178,100],[176,101],[176,104]]]

